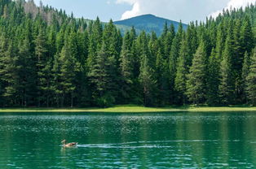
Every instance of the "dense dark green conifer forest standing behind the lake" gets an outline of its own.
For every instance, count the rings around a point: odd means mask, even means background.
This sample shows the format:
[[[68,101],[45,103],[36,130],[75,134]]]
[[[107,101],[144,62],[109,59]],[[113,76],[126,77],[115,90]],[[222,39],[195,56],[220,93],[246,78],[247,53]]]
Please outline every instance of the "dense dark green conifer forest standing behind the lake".
[[[256,6],[135,28],[0,0],[0,106],[256,105]]]

